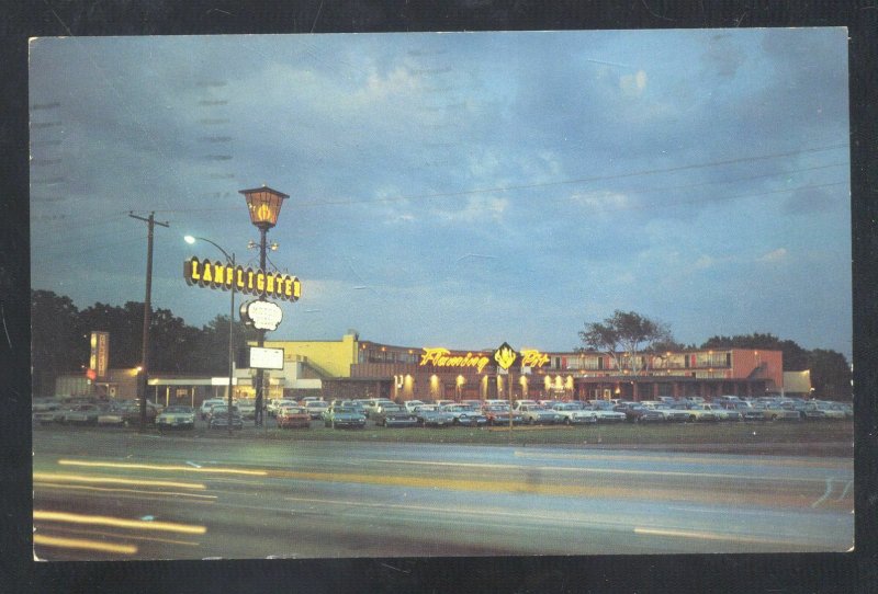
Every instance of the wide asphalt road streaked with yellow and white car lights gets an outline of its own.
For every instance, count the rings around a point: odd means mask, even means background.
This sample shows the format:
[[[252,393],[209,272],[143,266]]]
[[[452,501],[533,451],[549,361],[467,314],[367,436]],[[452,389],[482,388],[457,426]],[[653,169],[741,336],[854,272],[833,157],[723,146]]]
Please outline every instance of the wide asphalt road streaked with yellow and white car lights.
[[[846,551],[848,458],[34,433],[45,560]]]

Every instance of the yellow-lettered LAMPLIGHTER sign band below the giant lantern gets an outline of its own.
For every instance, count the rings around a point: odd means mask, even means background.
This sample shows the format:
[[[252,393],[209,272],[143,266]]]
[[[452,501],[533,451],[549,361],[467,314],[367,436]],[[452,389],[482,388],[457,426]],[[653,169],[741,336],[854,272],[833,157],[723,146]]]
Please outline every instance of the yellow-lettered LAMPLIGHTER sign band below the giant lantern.
[[[261,269],[229,266],[223,262],[199,260],[195,256],[183,262],[183,278],[189,286],[235,290],[247,295],[274,297],[297,301],[302,296],[299,278],[289,274],[264,272]]]

